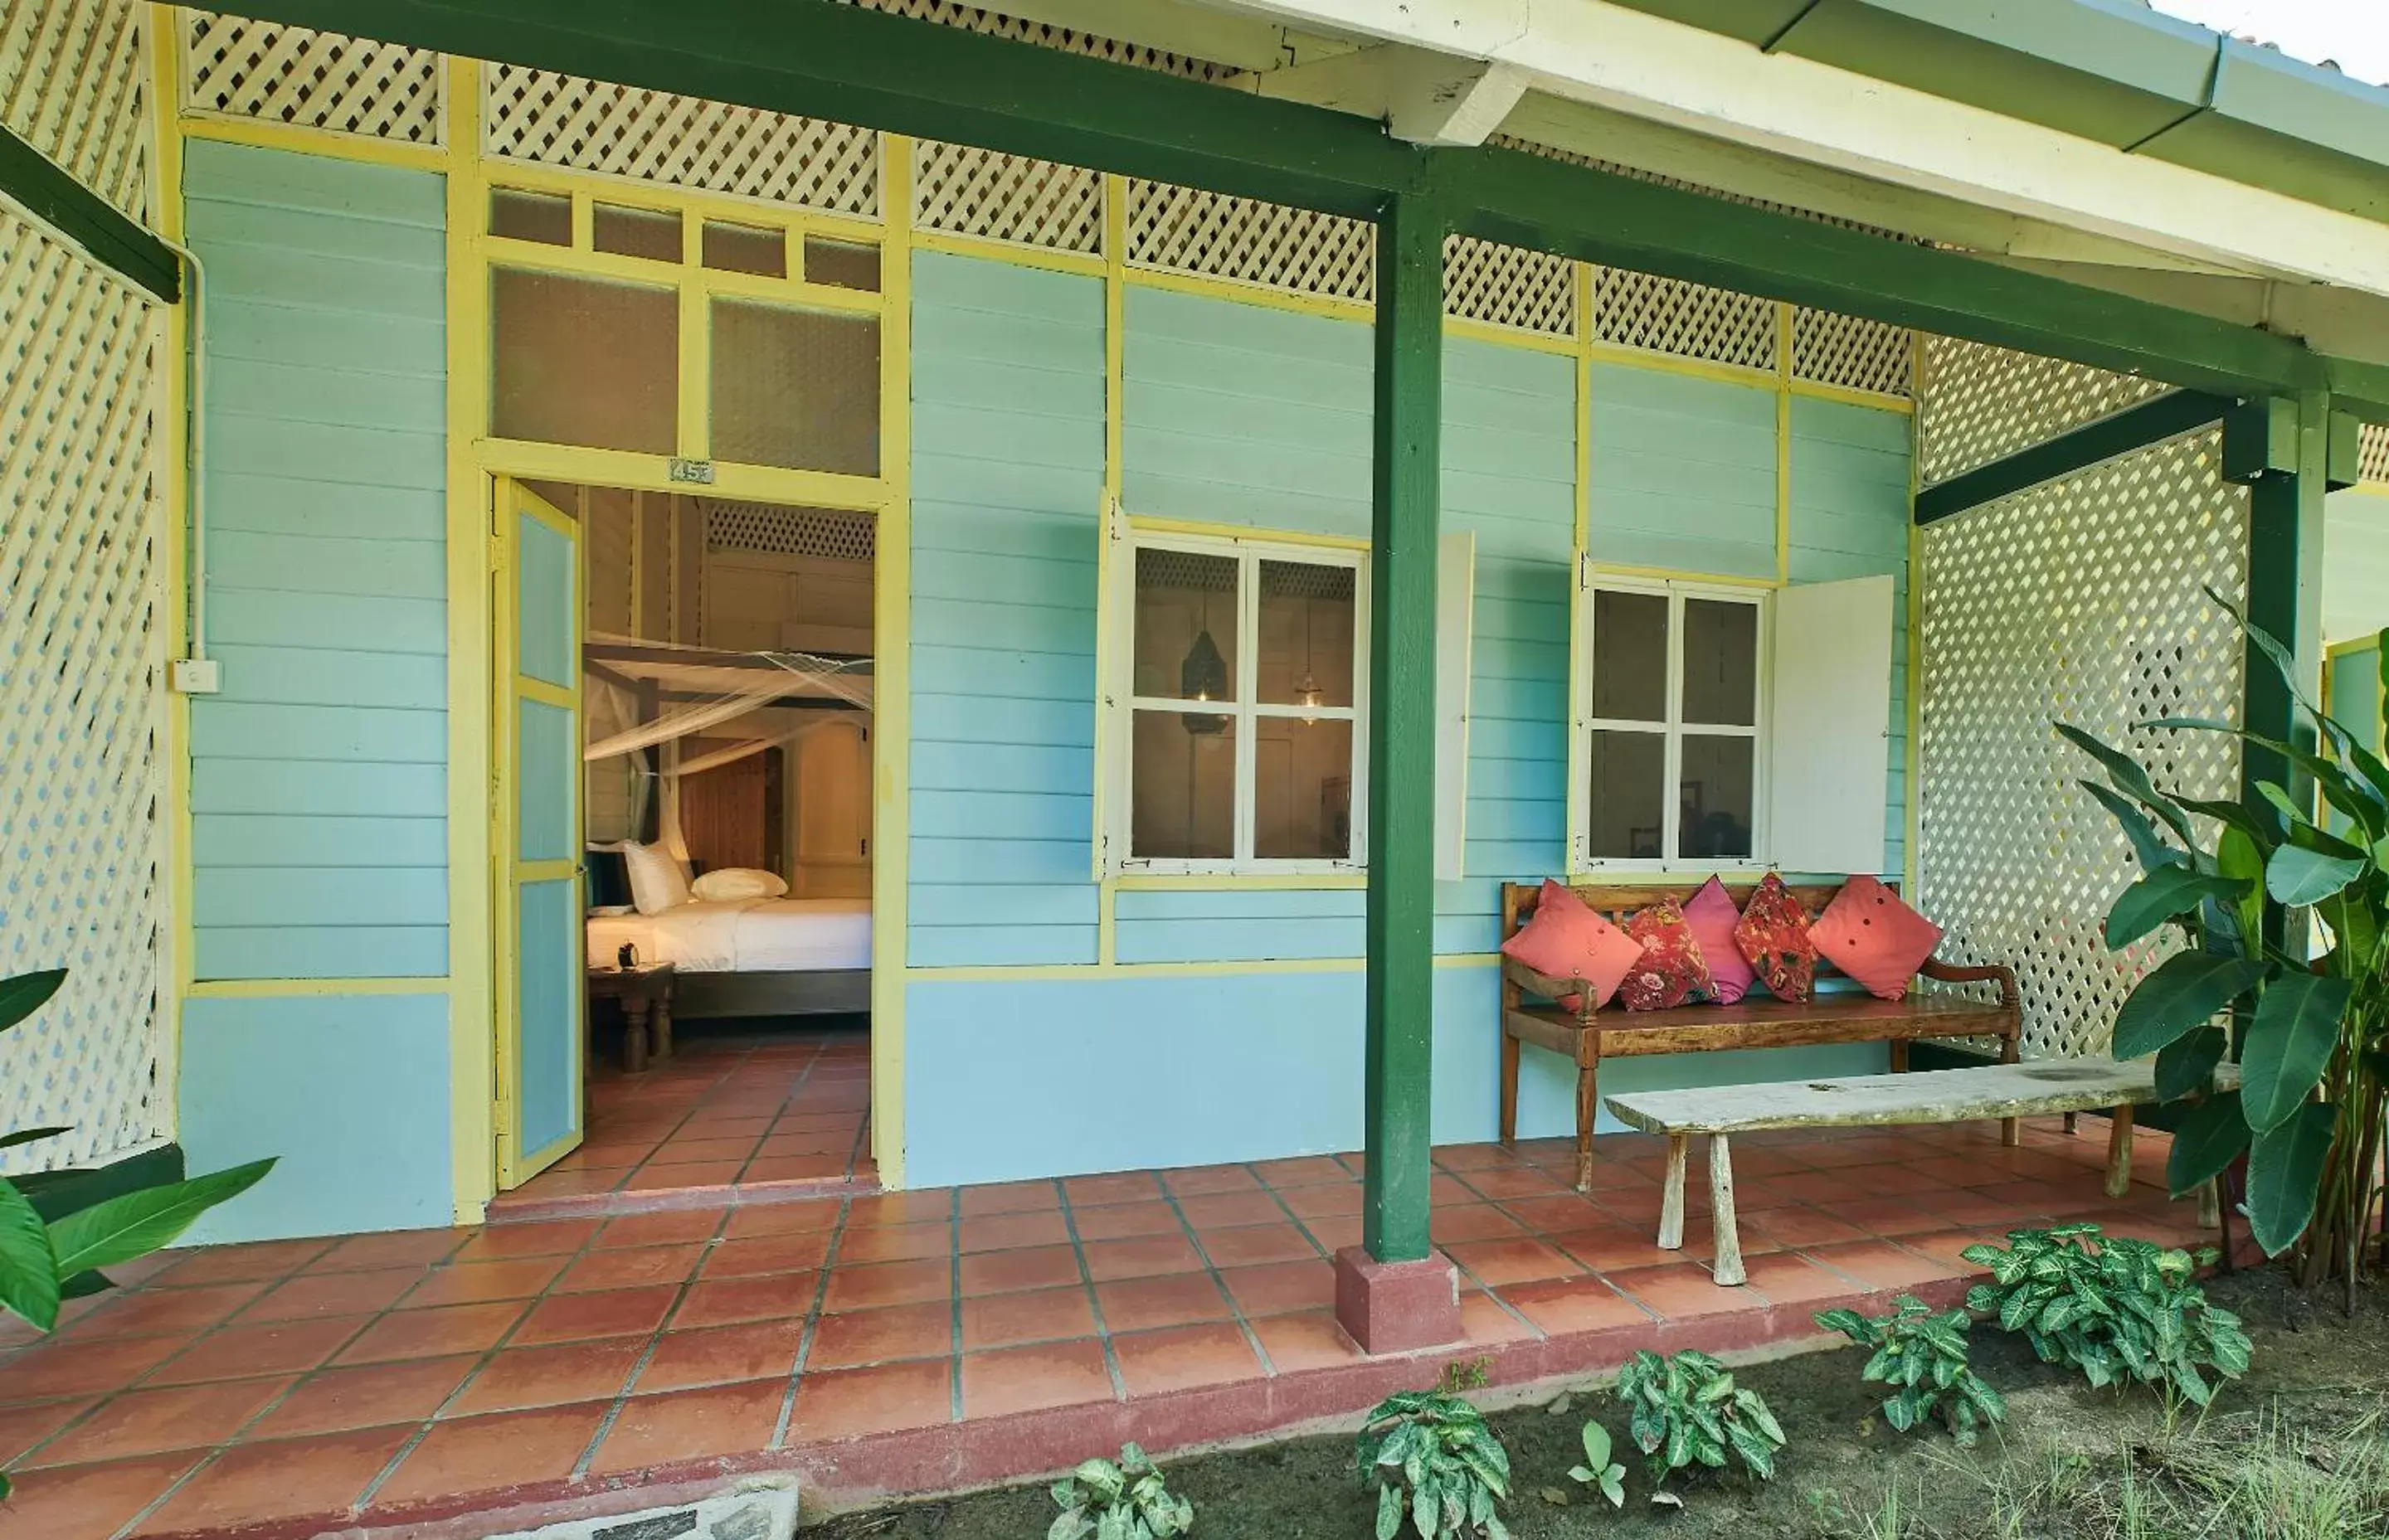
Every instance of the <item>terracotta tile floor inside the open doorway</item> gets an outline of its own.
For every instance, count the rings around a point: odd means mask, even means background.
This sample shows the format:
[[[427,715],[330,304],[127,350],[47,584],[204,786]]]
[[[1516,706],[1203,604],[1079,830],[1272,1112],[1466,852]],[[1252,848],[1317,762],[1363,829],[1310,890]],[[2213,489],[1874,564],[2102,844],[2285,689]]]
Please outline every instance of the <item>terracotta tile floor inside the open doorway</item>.
[[[590,1074],[588,1136],[492,1218],[640,1213],[669,1201],[874,1191],[870,1029],[681,1031],[669,1060]]]

